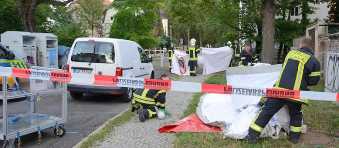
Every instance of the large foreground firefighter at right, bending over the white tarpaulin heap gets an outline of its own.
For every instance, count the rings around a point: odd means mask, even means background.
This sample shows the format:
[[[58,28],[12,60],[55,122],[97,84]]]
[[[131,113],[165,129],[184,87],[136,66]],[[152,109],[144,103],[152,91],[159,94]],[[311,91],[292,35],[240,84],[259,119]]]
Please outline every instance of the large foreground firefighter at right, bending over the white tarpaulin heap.
[[[320,63],[313,56],[312,39],[303,38],[300,42],[300,49],[290,51],[283,63],[280,75],[274,88],[289,90],[308,90],[308,86],[318,84],[320,79]],[[267,98],[257,116],[252,121],[248,135],[244,140],[251,143],[258,142],[258,138],[269,120],[285,104],[290,114],[290,135],[293,143],[298,143],[302,131],[303,114],[301,105],[308,105],[306,98],[302,99],[277,99]]]

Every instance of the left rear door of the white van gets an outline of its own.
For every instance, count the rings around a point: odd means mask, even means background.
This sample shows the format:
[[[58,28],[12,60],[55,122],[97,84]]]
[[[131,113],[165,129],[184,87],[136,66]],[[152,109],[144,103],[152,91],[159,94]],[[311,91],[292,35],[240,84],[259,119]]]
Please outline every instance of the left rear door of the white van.
[[[95,46],[94,40],[78,41],[75,44],[69,62],[69,71],[71,73],[80,73],[88,76],[95,73]]]

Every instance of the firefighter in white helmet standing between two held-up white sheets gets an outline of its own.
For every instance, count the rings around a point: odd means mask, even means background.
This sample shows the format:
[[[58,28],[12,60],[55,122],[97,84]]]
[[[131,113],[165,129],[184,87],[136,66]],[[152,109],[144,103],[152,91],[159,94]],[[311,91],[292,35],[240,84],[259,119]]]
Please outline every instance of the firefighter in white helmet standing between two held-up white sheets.
[[[188,66],[190,76],[197,76],[198,54],[201,52],[201,49],[195,45],[196,42],[195,39],[191,39],[190,45],[186,48],[186,53],[189,56]]]

